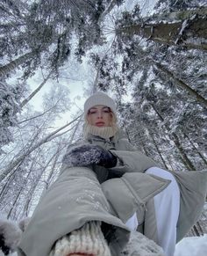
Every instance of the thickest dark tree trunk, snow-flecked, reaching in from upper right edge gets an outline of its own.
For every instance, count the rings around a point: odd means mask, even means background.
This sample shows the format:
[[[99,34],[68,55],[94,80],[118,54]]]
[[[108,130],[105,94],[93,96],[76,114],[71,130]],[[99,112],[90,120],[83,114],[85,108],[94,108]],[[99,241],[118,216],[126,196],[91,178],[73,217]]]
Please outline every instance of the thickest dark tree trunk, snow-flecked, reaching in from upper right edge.
[[[152,23],[140,22],[136,25],[118,27],[116,33],[118,36],[132,36],[138,34],[147,40],[153,40],[158,43],[168,45],[181,45],[189,49],[207,50],[207,18],[205,15],[196,15],[196,10],[191,18],[182,21],[159,22],[154,18]],[[199,12],[199,11],[197,11]]]

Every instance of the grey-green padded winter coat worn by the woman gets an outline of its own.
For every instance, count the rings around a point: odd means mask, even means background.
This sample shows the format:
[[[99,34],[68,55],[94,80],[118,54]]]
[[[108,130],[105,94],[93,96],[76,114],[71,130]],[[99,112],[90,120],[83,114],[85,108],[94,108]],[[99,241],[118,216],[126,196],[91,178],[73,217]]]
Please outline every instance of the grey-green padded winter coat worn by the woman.
[[[146,174],[146,169],[158,165],[135,150],[121,133],[109,141],[91,135],[83,143],[111,150],[118,157],[118,165],[111,169],[98,165],[62,165],[59,178],[46,191],[33,213],[18,247],[18,256],[47,256],[57,239],[90,220],[103,222],[111,253],[118,256],[129,238],[125,221],[136,211],[141,223],[139,230],[156,242],[153,196],[170,181]],[[180,240],[203,209],[207,172],[173,174],[181,190],[177,227],[177,240]]]

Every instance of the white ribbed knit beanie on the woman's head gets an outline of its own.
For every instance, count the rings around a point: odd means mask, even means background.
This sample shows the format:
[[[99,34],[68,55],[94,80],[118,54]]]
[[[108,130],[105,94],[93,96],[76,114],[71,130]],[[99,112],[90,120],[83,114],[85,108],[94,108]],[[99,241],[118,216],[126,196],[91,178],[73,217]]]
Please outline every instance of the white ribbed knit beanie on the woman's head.
[[[89,97],[89,99],[86,100],[84,104],[84,116],[87,116],[87,113],[89,112],[89,109],[93,106],[108,106],[111,108],[111,111],[116,116],[116,104],[113,99],[111,99],[106,93],[102,91],[98,91],[94,93],[92,96]]]

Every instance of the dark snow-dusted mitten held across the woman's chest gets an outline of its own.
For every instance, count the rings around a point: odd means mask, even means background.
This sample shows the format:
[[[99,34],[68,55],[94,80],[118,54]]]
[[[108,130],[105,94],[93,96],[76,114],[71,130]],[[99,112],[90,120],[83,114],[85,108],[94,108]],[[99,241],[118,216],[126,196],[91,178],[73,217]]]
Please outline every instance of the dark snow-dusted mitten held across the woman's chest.
[[[69,150],[62,162],[72,166],[96,164],[112,168],[117,165],[117,157],[100,146],[87,144]]]

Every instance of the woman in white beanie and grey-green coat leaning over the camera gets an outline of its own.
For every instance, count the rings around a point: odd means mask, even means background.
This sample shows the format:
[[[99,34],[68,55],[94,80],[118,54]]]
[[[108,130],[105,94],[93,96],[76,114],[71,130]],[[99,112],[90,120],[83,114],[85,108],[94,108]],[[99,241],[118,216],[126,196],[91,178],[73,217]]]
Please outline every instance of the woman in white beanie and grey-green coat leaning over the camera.
[[[84,114],[85,138],[68,146],[18,255],[118,256],[138,228],[172,256],[203,209],[206,172],[172,174],[134,149],[103,92],[86,100]]]

